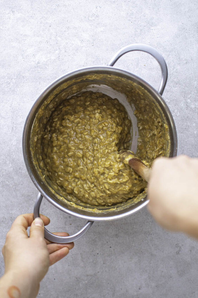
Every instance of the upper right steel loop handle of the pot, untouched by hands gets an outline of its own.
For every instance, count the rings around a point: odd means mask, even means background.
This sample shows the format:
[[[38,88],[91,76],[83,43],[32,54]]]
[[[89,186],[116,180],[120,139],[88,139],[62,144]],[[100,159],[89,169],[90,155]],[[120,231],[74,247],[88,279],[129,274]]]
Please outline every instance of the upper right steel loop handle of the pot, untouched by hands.
[[[165,62],[164,58],[162,57],[162,55],[156,49],[152,48],[152,46],[148,46],[146,44],[130,44],[129,46],[125,46],[124,48],[120,49],[116,53],[116,55],[113,56],[113,58],[108,63],[108,66],[113,66],[122,55],[124,55],[128,52],[131,52],[131,51],[146,52],[146,53],[152,55],[158,61],[160,68],[161,68],[161,72],[162,72],[162,77],[161,77],[161,82],[160,82],[158,92],[160,95],[162,95],[164,88],[166,86],[166,81],[167,81],[167,77],[168,77],[167,66],[166,66],[166,62]]]

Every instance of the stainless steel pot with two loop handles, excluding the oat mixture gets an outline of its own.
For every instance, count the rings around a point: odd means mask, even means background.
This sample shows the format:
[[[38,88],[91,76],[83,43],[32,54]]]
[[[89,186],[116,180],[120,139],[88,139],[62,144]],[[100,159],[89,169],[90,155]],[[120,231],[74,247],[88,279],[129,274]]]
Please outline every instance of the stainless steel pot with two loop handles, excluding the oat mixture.
[[[122,55],[134,50],[147,52],[158,61],[162,73],[158,91],[153,89],[152,86],[150,86],[144,80],[131,74],[130,72],[112,67]],[[38,168],[35,166],[35,162],[33,161],[31,154],[31,132],[38,111],[40,111],[43,106],[49,106],[50,100],[52,99],[55,100],[57,98],[62,98],[63,100],[64,96],[67,98],[74,93],[79,93],[82,90],[100,91],[110,95],[111,97],[116,97],[122,102],[121,98],[123,96],[126,97],[124,90],[130,90],[130,88],[132,88],[135,90],[137,96],[141,96],[141,98],[147,97],[149,100],[155,103],[160,113],[163,114],[164,119],[166,119],[170,135],[169,156],[172,157],[177,154],[177,133],[169,108],[161,97],[166,85],[166,81],[167,66],[163,57],[151,46],[144,44],[132,44],[117,52],[116,55],[110,60],[108,66],[86,67],[63,75],[49,85],[46,90],[44,90],[43,93],[38,97],[26,119],[23,133],[23,154],[25,164],[33,183],[39,190],[39,195],[34,207],[34,216],[39,216],[40,204],[44,196],[58,209],[70,215],[75,215],[88,220],[87,224],[79,232],[68,237],[55,236],[45,228],[45,238],[56,243],[72,242],[80,238],[91,227],[94,221],[107,221],[123,218],[144,207],[148,203],[148,200],[146,199],[146,196],[144,196],[136,204],[133,202],[127,202],[118,204],[113,208],[98,207],[97,210],[91,210],[86,206],[81,206],[81,208],[80,206],[70,204],[70,202],[66,200],[60,200],[56,193],[50,189],[49,185],[44,183],[41,179]],[[67,96],[65,94],[67,94]],[[125,104],[127,105],[127,103]],[[128,106],[126,106],[126,108],[130,114],[134,127],[135,117],[133,115],[133,110],[129,112],[130,108]],[[135,136],[135,134],[133,135]],[[132,146],[137,147],[137,136],[136,139],[132,141]],[[132,147],[132,150],[135,151],[136,149]]]

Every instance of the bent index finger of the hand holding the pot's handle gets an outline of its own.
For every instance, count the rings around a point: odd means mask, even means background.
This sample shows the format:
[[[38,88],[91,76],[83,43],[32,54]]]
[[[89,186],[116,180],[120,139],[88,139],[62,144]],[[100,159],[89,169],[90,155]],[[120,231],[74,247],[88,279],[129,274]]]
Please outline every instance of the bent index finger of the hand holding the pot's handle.
[[[42,218],[45,226],[50,223],[50,219],[47,216],[40,214],[40,217]],[[13,222],[11,229],[16,226],[22,226],[25,229],[27,229],[29,226],[31,226],[33,220],[34,220],[33,213],[19,215]]]

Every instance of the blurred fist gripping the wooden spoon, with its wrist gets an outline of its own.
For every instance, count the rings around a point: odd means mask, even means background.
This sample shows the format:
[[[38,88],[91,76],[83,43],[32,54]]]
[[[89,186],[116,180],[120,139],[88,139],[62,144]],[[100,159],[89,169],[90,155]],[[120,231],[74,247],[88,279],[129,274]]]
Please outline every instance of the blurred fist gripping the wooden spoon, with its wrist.
[[[156,159],[148,199],[149,212],[160,225],[198,238],[198,159]]]

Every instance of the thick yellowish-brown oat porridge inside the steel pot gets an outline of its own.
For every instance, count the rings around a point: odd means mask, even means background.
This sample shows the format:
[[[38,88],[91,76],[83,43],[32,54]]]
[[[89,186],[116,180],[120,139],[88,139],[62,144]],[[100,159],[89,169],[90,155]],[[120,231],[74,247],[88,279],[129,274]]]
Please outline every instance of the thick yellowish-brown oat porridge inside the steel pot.
[[[151,165],[165,155],[166,140],[159,113],[142,103],[133,102],[136,154]],[[131,121],[117,99],[87,91],[63,100],[43,121],[35,124],[33,146],[43,177],[63,198],[110,206],[145,190],[146,182],[120,158],[119,151],[130,146]]]

